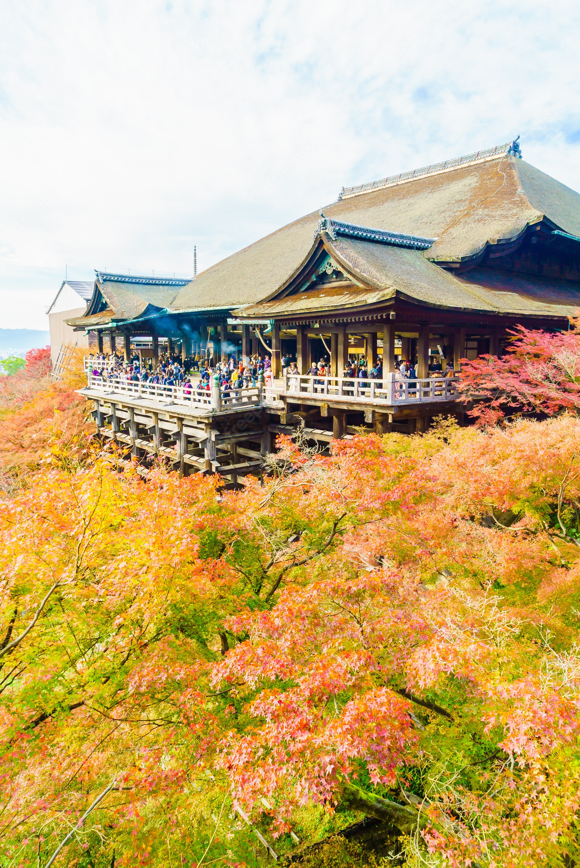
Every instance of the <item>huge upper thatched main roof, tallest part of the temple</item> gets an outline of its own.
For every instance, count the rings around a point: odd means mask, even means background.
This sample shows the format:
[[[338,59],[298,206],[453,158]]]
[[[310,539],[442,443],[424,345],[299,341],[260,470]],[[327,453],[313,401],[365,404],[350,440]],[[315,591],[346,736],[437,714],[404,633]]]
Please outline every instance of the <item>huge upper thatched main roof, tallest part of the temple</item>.
[[[580,235],[580,194],[504,152],[347,196],[324,213],[359,226],[434,238],[422,255],[436,262],[470,260],[544,219]],[[181,289],[172,310],[267,299],[305,259],[319,219],[319,212],[306,214],[211,266]]]

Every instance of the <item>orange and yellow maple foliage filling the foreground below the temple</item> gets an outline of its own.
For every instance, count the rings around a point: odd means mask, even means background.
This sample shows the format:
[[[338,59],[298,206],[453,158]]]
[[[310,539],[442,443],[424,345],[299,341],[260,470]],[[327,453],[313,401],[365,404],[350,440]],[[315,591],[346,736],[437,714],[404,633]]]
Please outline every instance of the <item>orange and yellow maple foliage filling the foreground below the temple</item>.
[[[5,865],[255,865],[363,814],[399,864],[572,865],[579,441],[280,437],[234,492],[56,437],[0,501]]]

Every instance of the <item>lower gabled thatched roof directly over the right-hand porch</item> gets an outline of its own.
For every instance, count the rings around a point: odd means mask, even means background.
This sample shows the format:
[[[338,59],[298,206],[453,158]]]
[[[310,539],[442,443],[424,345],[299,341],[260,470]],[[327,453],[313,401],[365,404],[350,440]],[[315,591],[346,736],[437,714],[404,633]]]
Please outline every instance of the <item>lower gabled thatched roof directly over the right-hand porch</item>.
[[[313,272],[324,278],[323,256],[339,266],[338,280],[312,280]],[[418,250],[344,233],[332,237],[323,229],[287,289],[282,286],[271,299],[236,313],[241,319],[293,318],[353,307],[371,310],[395,299],[458,312],[567,317],[578,306],[580,283],[489,267],[456,275],[425,260]]]

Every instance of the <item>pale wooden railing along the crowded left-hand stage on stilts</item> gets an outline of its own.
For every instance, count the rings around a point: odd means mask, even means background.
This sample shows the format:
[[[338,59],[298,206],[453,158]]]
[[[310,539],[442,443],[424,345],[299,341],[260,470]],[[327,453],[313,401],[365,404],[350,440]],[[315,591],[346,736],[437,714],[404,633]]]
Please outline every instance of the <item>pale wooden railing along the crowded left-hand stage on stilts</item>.
[[[260,405],[260,387],[229,389],[221,391],[214,385],[209,389],[199,389],[195,386],[161,385],[158,383],[142,383],[122,378],[107,378],[87,374],[87,383],[91,391],[102,395],[122,395],[124,398],[142,398],[155,401],[157,404],[180,404],[205,412],[219,412],[242,406]]]

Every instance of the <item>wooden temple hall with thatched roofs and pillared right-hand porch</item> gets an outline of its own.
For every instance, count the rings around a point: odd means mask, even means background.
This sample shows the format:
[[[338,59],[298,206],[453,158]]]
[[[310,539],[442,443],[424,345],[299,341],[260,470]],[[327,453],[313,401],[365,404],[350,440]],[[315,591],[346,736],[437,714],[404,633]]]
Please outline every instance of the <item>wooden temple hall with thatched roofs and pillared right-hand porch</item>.
[[[514,325],[567,329],[579,308],[580,194],[525,162],[512,141],[343,187],[320,212],[190,281],[97,273],[87,312],[69,325],[95,332],[99,347],[120,336],[127,355],[142,339],[154,359],[160,341],[184,355],[211,343],[223,360],[267,345],[267,424],[279,430],[301,415],[341,437],[364,420],[421,430],[457,407],[448,384],[395,388],[398,356],[416,362],[419,380],[430,359],[458,373],[461,358],[501,353]],[[282,377],[287,353],[299,378]],[[352,353],[368,365],[382,357],[372,395],[342,382]],[[308,370],[323,355],[332,382],[320,388]]]

